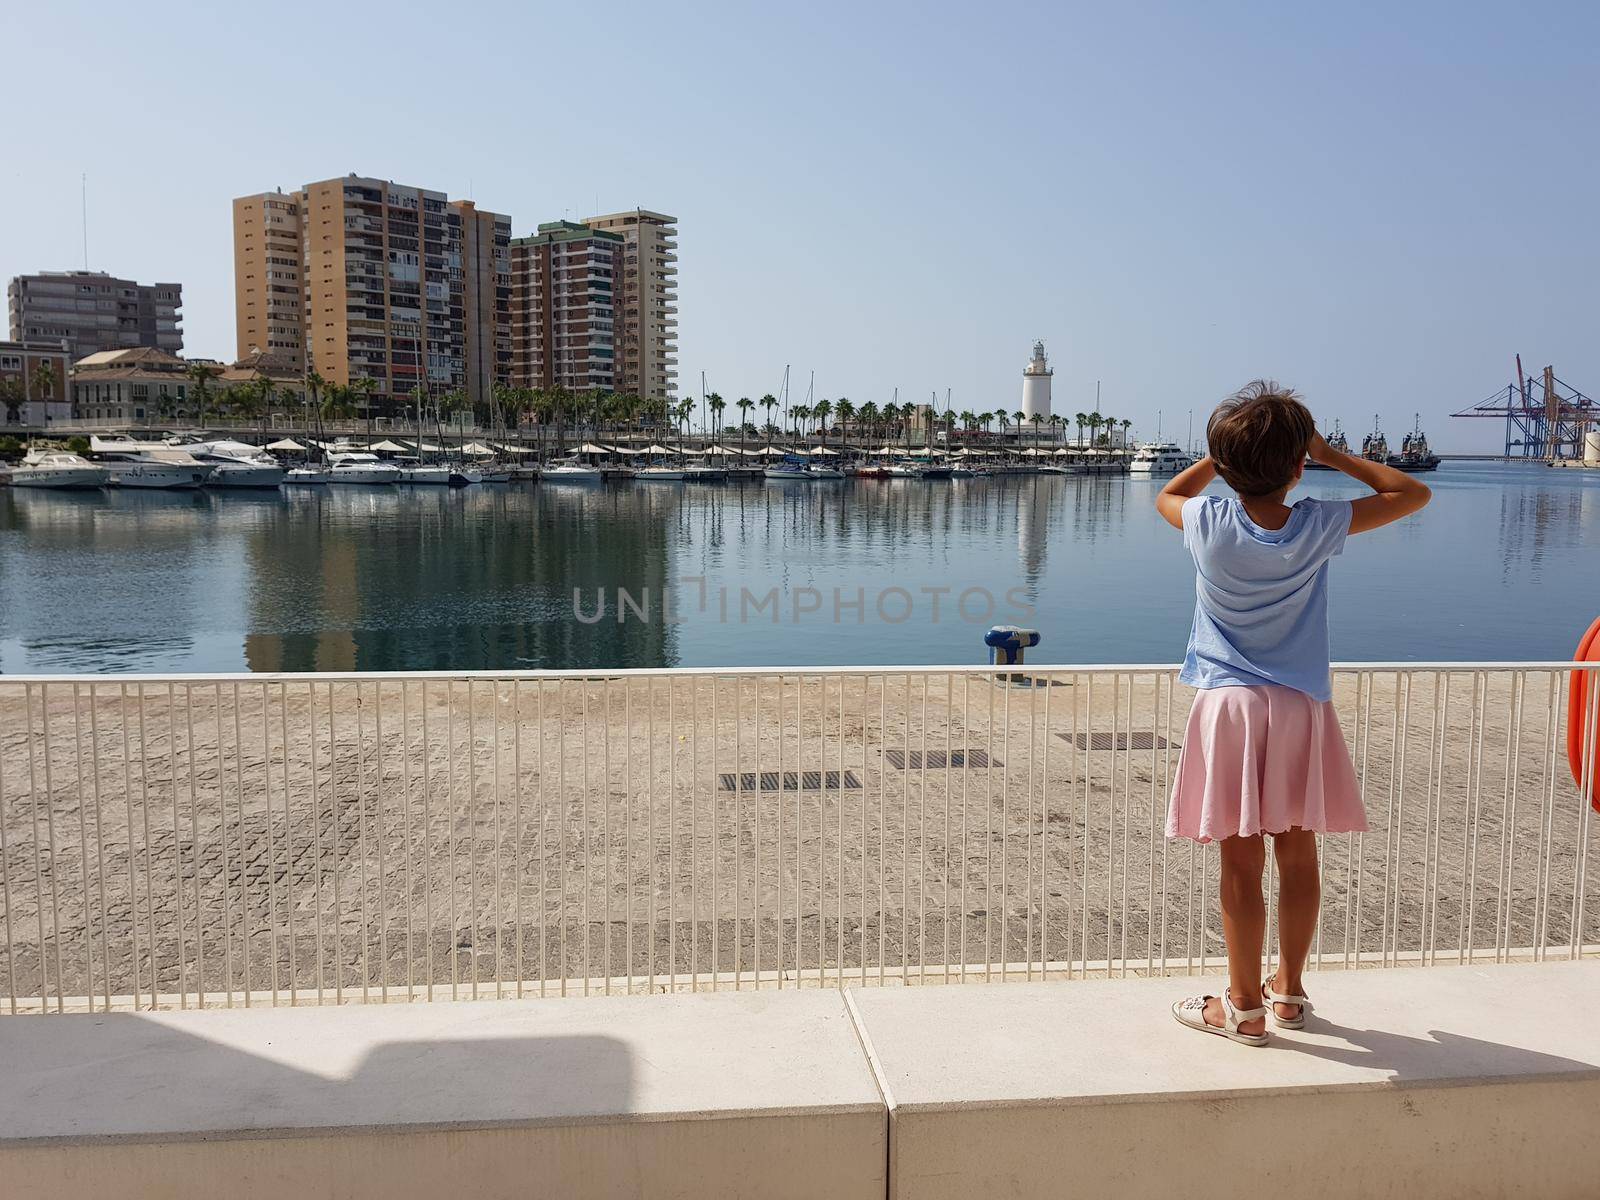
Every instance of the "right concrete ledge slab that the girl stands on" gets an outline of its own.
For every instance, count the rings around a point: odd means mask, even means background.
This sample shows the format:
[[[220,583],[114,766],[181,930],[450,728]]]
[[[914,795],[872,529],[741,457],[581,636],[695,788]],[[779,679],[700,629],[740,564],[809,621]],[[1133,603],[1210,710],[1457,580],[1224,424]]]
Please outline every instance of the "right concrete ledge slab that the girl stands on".
[[[1206,984],[1203,987],[1197,984]],[[1336,973],[1264,1050],[1219,981],[854,992],[894,1197],[1592,1197],[1600,965]]]

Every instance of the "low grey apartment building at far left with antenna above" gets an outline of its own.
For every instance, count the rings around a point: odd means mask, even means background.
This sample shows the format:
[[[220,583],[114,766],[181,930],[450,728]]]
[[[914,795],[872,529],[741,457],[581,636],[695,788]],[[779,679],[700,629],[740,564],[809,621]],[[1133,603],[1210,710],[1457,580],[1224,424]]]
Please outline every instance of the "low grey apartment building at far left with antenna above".
[[[66,342],[74,360],[138,346],[178,354],[182,304],[178,283],[134,283],[102,270],[43,270],[6,288],[11,341]]]

